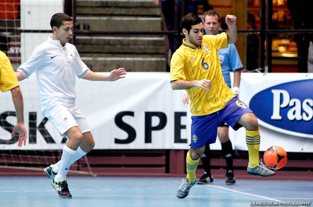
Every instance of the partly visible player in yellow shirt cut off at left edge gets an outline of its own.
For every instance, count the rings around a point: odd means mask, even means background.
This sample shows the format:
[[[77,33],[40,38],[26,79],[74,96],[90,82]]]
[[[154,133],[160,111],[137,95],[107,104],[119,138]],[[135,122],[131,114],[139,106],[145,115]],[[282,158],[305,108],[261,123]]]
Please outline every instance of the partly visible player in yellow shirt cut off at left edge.
[[[11,136],[14,137],[18,133],[18,146],[21,147],[23,142],[24,145],[26,144],[27,139],[24,125],[23,96],[10,60],[2,51],[0,51],[0,90],[2,92],[11,91],[17,118],[17,124],[13,127]]]

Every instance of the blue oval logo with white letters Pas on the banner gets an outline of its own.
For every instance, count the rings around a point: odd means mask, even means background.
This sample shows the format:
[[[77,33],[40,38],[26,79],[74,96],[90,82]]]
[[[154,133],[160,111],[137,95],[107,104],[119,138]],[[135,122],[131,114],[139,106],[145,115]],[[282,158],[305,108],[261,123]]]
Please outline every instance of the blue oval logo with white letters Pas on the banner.
[[[265,127],[274,126],[284,133],[312,137],[312,86],[313,79],[275,85],[255,94],[249,107]]]

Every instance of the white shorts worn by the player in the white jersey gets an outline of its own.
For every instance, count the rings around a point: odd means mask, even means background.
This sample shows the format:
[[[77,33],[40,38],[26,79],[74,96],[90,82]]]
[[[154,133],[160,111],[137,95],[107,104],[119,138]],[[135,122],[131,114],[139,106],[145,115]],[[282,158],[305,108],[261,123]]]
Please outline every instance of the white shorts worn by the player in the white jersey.
[[[74,126],[78,126],[81,133],[90,131],[87,120],[77,108],[74,98],[54,99],[42,110],[42,114],[54,124],[63,137],[66,137],[64,133]]]

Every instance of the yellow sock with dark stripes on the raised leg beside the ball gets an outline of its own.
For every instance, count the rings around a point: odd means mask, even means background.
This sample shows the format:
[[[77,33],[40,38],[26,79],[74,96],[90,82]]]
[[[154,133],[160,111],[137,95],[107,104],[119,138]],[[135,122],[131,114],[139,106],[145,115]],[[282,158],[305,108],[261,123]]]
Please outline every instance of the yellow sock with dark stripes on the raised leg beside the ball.
[[[259,165],[260,132],[246,130],[246,144],[249,152],[249,165],[254,168]]]

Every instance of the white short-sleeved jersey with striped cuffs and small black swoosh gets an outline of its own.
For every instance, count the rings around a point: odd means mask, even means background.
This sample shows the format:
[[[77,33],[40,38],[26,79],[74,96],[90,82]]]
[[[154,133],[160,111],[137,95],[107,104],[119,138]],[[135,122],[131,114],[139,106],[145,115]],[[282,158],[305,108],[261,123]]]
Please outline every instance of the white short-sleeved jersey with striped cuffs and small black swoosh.
[[[25,78],[36,71],[43,106],[51,99],[75,99],[75,75],[84,78],[90,69],[83,63],[74,45],[66,43],[63,47],[59,40],[53,40],[50,36],[34,49],[18,71]]]

